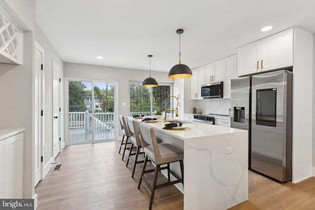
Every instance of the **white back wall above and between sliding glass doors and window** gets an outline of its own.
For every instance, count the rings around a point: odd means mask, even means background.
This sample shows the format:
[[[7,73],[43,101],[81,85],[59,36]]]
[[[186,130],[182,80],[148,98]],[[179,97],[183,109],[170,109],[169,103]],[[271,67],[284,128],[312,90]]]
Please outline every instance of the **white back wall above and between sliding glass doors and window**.
[[[142,83],[144,79],[149,77],[148,70],[137,70],[79,63],[65,62],[63,69],[65,83],[67,78],[91,80],[94,79],[113,82],[117,81],[118,87],[115,87],[115,90],[116,88],[118,89],[118,95],[115,95],[115,97],[118,97],[118,111],[115,112],[123,116],[129,116],[129,81],[138,81]],[[151,76],[155,78],[158,83],[174,83],[174,79],[168,78],[168,72],[152,71]],[[126,106],[122,106],[123,102],[126,102]],[[64,116],[64,118],[66,118],[66,116]],[[117,121],[118,119],[116,120],[116,122]],[[118,129],[118,131],[119,135],[121,136],[121,130]]]

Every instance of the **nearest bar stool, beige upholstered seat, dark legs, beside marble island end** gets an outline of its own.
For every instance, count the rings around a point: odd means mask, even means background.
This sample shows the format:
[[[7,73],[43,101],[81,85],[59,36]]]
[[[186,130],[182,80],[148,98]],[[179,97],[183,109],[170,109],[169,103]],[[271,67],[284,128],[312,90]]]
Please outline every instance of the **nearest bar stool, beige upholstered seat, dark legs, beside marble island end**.
[[[160,187],[176,184],[179,182],[182,182],[184,184],[184,165],[183,165],[184,151],[170,144],[158,144],[154,129],[150,127],[149,125],[146,125],[145,123],[139,123],[139,131],[140,131],[140,140],[141,140],[142,150],[146,154],[146,159],[144,161],[141,177],[138,184],[138,189],[140,189],[141,181],[144,180],[144,182],[148,185],[149,189],[151,190],[151,197],[150,197],[150,204],[149,204],[149,210],[151,210],[152,204],[153,204],[154,193],[156,189]],[[148,159],[150,159],[153,163],[155,163],[156,165],[155,169],[146,170]],[[177,174],[175,174],[172,170],[170,170],[170,167],[169,167],[170,163],[176,162],[176,161],[180,162],[182,178],[180,178]],[[161,165],[163,164],[167,164],[167,166],[161,167]],[[163,169],[167,169],[168,182],[157,185],[158,172]],[[150,172],[155,172],[153,186],[151,186],[148,180],[144,177],[144,174],[150,173]],[[172,174],[177,180],[170,181],[170,174]]]

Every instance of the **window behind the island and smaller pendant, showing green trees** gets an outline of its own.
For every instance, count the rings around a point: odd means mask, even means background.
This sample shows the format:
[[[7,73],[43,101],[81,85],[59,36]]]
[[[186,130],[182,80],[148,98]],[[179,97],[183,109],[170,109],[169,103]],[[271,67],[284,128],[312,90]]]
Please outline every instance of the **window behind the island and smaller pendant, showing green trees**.
[[[152,88],[152,110],[164,111],[165,99],[171,95],[170,85],[160,85]],[[151,92],[149,87],[142,87],[142,84],[130,83],[130,116],[144,115],[151,116]],[[167,102],[167,107],[170,101]]]

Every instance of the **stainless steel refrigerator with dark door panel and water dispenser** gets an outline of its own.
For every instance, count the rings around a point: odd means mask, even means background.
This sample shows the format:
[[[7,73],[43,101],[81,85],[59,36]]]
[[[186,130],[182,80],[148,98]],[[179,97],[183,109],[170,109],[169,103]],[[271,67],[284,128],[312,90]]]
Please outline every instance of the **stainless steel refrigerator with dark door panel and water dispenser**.
[[[231,80],[231,127],[249,131],[249,167],[276,180],[292,176],[292,72]]]

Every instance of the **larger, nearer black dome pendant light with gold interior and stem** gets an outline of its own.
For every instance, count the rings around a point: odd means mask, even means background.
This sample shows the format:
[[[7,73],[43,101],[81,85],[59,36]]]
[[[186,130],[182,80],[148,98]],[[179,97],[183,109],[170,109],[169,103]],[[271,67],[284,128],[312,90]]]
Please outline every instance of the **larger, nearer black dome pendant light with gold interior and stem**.
[[[183,79],[189,78],[192,76],[190,68],[182,64],[181,58],[181,34],[184,32],[182,29],[176,30],[176,33],[179,34],[179,63],[174,65],[168,73],[168,77],[172,79]]]

